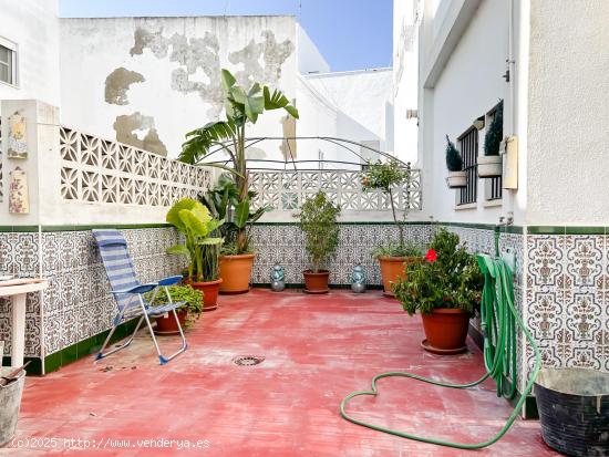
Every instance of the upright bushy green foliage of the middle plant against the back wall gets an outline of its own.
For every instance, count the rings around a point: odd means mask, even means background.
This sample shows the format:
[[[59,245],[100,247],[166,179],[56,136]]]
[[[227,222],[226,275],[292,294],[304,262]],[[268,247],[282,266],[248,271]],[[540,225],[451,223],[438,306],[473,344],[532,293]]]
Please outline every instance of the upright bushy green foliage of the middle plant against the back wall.
[[[313,272],[319,272],[321,263],[330,257],[339,245],[337,219],[340,207],[332,204],[323,191],[307,198],[295,217],[300,219],[300,228],[307,238],[306,249],[311,256]]]

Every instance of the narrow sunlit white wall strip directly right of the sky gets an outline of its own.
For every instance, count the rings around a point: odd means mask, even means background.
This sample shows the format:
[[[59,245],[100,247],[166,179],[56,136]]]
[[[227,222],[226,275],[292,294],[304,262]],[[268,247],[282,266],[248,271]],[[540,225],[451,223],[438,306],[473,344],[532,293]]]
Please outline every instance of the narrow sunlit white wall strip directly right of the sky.
[[[395,156],[416,166],[417,120],[407,110],[417,108],[419,34],[416,0],[393,2],[393,123]]]

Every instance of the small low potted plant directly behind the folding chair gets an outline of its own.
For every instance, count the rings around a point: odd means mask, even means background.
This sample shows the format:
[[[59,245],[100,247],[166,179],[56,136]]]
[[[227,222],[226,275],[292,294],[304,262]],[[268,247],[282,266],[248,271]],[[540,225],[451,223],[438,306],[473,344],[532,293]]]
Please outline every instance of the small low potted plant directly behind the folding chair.
[[[187,318],[197,318],[204,311],[203,303],[205,298],[203,292],[193,289],[190,285],[169,285],[167,290],[174,302],[184,302],[184,305],[176,310],[182,328],[186,324]],[[166,304],[168,301],[167,294],[164,291],[159,291],[154,299],[153,305]],[[154,333],[159,335],[175,335],[179,333],[174,313],[156,318]]]

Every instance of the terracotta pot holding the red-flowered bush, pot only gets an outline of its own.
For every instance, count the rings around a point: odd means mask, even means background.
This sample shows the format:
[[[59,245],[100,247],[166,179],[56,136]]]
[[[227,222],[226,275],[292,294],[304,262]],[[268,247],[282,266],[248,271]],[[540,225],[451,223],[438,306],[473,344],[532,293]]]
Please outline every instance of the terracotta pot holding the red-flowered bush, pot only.
[[[463,310],[438,308],[421,314],[427,343],[438,350],[456,351],[465,346],[469,314]]]

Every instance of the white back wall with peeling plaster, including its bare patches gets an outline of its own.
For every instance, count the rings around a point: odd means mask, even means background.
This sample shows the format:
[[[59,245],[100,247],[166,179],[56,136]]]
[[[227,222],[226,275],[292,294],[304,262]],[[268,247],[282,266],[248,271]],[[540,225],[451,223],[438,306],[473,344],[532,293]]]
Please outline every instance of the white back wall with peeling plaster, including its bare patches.
[[[176,157],[186,132],[220,115],[221,67],[295,98],[296,43],[292,17],[62,19],[62,123]],[[281,136],[282,115],[248,135]],[[281,158],[279,144],[261,148]]]

